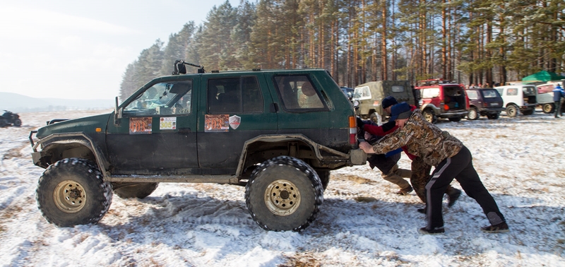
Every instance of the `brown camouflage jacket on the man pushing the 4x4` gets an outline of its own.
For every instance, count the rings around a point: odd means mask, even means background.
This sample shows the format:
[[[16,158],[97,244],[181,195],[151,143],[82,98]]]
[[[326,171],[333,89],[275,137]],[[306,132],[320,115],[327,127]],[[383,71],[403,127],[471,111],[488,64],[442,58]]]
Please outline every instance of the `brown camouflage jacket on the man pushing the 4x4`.
[[[408,148],[408,153],[422,158],[429,165],[437,166],[442,160],[459,153],[463,143],[447,131],[441,131],[427,122],[422,111],[416,109],[403,129],[396,129],[381,138],[373,144],[373,150],[377,154],[384,154],[403,146]]]

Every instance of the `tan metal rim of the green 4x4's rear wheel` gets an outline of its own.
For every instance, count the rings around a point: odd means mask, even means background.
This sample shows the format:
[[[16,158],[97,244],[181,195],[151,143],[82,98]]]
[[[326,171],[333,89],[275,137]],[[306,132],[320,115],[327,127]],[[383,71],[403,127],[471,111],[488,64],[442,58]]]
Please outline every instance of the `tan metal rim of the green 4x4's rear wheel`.
[[[291,215],[300,206],[300,200],[297,186],[287,180],[275,180],[265,189],[265,205],[275,215]]]

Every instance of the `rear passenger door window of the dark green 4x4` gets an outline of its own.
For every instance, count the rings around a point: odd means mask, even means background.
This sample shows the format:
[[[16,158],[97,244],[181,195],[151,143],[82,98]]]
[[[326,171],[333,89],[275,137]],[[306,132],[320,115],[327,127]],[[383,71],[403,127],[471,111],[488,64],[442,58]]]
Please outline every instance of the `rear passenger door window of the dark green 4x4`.
[[[263,112],[263,95],[256,76],[210,79],[207,102],[209,114]]]

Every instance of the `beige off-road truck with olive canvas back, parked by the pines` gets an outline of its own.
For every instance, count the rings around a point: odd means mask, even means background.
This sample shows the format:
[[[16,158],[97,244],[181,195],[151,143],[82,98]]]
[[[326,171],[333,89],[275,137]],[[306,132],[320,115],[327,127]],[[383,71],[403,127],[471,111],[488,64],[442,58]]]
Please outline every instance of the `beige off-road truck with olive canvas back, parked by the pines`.
[[[357,115],[362,119],[371,119],[376,124],[386,121],[388,114],[384,112],[381,102],[389,95],[398,102],[415,103],[408,81],[371,81],[355,87],[353,101],[359,102]]]

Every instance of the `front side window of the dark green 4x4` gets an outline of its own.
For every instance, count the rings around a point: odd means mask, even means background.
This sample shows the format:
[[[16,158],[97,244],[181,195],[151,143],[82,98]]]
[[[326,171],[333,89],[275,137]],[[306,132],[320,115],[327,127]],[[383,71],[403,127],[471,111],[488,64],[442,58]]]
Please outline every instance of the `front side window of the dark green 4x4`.
[[[189,114],[192,81],[157,83],[124,107],[124,117]]]

